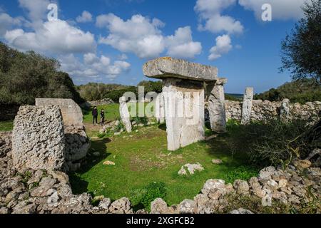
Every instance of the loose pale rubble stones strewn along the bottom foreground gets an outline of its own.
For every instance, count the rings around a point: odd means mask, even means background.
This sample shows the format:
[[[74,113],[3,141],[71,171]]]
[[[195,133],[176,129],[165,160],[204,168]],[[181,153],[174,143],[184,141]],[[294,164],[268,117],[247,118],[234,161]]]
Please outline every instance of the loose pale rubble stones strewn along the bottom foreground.
[[[208,180],[193,200],[185,199],[168,207],[163,199],[155,199],[151,203],[151,213],[266,212],[264,209],[252,209],[253,205],[250,207],[248,202],[259,202],[259,208],[277,208],[271,212],[287,212],[282,208],[290,207],[302,212],[300,208],[312,207],[313,212],[320,213],[321,169],[311,165],[307,160],[297,160],[286,170],[266,167],[258,177],[252,177],[248,182],[235,180],[233,185],[226,184],[224,180]],[[0,214],[133,213],[127,198],[114,202],[105,197],[98,200],[98,206],[93,206],[93,199],[88,193],[73,195],[68,175],[64,172],[15,170],[11,157],[11,133],[0,133]]]

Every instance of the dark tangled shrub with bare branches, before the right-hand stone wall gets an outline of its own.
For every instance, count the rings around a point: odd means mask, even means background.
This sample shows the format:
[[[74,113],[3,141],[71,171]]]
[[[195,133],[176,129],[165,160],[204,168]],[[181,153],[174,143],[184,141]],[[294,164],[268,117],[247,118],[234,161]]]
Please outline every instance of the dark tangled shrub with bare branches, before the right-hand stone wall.
[[[248,128],[250,138],[250,160],[260,164],[285,165],[294,157],[305,157],[317,142],[309,139],[307,120],[292,120],[284,123],[280,119],[268,123],[252,123]]]

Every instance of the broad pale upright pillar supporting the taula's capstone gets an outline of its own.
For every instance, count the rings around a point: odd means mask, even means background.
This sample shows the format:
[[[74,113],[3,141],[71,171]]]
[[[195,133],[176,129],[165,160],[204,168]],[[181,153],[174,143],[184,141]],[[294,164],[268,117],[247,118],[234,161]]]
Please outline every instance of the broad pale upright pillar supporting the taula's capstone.
[[[204,140],[203,83],[175,78],[163,81],[168,150]]]

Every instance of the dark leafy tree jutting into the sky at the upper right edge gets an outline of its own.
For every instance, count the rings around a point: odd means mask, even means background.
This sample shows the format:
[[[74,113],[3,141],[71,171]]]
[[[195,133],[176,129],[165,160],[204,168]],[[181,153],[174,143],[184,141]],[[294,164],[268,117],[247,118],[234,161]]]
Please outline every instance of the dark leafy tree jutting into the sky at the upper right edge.
[[[293,80],[315,78],[321,83],[321,0],[305,2],[305,16],[282,41],[282,67]]]

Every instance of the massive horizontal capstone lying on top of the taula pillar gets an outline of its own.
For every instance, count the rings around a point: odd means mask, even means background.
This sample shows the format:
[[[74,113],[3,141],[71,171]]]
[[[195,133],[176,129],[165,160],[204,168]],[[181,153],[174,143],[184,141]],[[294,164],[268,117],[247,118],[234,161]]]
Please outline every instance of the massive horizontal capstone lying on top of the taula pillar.
[[[150,78],[181,78],[194,81],[216,81],[218,68],[181,59],[161,57],[143,65],[143,73]]]

